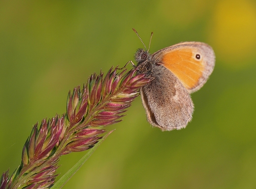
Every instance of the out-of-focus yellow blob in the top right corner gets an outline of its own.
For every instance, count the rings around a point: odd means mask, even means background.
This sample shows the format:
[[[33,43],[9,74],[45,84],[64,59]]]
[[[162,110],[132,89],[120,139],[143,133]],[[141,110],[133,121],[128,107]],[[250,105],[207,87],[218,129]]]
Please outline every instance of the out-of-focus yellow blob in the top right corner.
[[[255,63],[256,3],[250,0],[220,0],[215,9],[211,38],[217,59],[232,68]],[[219,57],[218,57],[219,56]]]

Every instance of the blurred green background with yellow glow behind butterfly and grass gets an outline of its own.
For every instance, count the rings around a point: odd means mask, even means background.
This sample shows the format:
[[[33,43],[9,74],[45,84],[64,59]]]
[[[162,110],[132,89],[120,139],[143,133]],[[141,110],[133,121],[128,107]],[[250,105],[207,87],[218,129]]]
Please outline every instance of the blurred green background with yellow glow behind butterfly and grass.
[[[138,97],[64,189],[255,189],[255,0],[1,0],[0,173],[20,164],[33,124],[65,112],[69,90],[133,60],[132,28],[146,46],[154,32],[152,53],[210,44],[215,70],[186,129],[152,128]],[[59,173],[84,154],[62,157]]]

